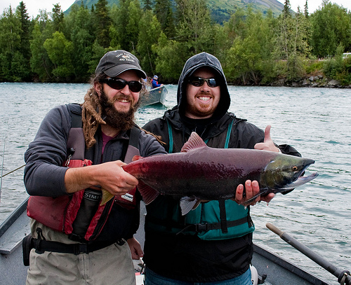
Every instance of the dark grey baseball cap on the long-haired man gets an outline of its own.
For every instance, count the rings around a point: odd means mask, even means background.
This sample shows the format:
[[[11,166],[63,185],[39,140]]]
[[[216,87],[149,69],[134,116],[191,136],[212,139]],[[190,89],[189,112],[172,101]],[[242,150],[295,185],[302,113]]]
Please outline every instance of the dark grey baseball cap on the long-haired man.
[[[105,53],[101,58],[95,74],[104,73],[110,77],[116,77],[124,71],[135,70],[141,78],[146,78],[146,74],[141,69],[138,58],[126,50],[113,50]]]

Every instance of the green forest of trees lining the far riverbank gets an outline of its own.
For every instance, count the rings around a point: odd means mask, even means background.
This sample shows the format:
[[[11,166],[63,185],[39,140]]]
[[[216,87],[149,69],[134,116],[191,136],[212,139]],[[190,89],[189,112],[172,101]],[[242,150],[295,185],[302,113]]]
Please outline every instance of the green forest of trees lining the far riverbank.
[[[109,50],[128,50],[149,76],[177,83],[185,61],[218,57],[228,83],[289,84],[322,75],[351,84],[351,13],[324,0],[314,13],[289,0],[278,17],[237,9],[222,25],[205,0],[107,0],[87,8],[59,4],[29,18],[23,1],[0,16],[0,82],[86,83]]]

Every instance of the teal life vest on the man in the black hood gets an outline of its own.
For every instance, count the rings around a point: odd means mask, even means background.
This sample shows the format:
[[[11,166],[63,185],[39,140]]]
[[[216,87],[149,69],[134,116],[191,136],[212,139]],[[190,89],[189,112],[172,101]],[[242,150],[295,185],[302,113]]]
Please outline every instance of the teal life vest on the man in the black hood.
[[[238,123],[239,121],[236,121]],[[235,123],[235,124],[236,124]],[[168,122],[168,153],[179,152],[183,146],[183,134],[173,130]],[[228,148],[234,118],[217,137],[206,140],[214,148]],[[233,189],[235,191],[236,189]],[[152,229],[169,234],[197,235],[200,239],[232,239],[253,232],[255,229],[250,216],[250,208],[245,208],[233,200],[211,200],[199,206],[185,216],[180,213],[179,201],[172,197],[160,197],[152,205],[152,211],[146,216],[145,229]]]

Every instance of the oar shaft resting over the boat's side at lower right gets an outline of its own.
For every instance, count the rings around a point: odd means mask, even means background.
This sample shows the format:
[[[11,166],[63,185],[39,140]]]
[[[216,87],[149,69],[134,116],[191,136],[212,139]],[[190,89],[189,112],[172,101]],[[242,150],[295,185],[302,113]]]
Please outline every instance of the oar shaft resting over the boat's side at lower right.
[[[315,253],[304,244],[298,242],[288,233],[279,230],[279,228],[275,227],[271,223],[266,223],[266,227],[272,230],[272,232],[275,234],[279,235],[284,242],[287,242],[291,246],[295,247],[298,251],[305,254],[305,256],[312,259],[315,263],[321,265],[325,270],[328,270],[331,274],[338,278],[338,282],[340,284],[351,285],[351,276],[348,270],[341,270],[340,268],[334,266],[328,260],[324,259],[322,256],[319,256],[319,254]]]

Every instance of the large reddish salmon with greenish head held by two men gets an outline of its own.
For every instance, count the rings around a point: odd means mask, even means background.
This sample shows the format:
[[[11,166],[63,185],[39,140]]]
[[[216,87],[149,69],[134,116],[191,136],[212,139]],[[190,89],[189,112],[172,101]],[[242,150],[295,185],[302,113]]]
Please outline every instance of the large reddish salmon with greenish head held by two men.
[[[301,176],[312,163],[308,158],[272,151],[210,148],[193,132],[180,153],[140,158],[123,169],[139,179],[145,204],[159,193],[173,195],[181,197],[182,214],[186,214],[201,200],[234,198],[237,186],[248,179],[258,181],[258,195],[292,190],[317,177],[317,173]]]

